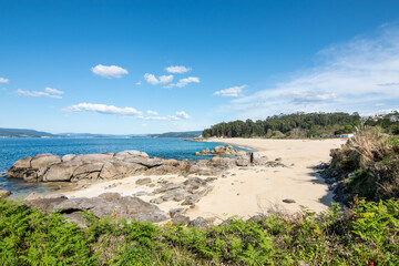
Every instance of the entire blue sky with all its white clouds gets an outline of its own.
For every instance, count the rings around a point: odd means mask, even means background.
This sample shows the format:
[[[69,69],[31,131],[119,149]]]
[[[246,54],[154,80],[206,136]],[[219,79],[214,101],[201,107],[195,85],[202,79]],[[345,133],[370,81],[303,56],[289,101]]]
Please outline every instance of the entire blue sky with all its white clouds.
[[[203,130],[399,108],[399,1],[0,0],[0,127]]]

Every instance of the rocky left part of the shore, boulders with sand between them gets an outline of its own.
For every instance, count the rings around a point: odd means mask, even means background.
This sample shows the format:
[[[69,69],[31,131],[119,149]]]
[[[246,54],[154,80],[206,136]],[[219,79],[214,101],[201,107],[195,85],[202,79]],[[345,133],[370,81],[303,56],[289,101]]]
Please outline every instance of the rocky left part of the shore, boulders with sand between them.
[[[227,170],[256,165],[285,166],[254,152],[235,152],[229,145],[218,146],[215,151],[219,151],[217,155],[226,155],[228,151],[228,155],[234,152],[236,156],[188,162],[150,157],[140,151],[68,154],[62,157],[38,154],[17,161],[7,172],[7,177],[25,182],[75,183],[73,192],[33,193],[23,204],[43,212],[60,212],[81,226],[84,226],[81,214],[88,211],[96,218],[113,216],[139,222],[161,223],[170,219],[175,224],[202,224],[206,219],[196,218],[193,222],[184,214],[195,208],[196,203],[214,190],[212,183],[215,180],[225,178]],[[131,190],[131,182],[123,183],[127,177],[134,178]],[[95,185],[102,185],[96,190],[101,193],[89,195],[84,188],[91,190]],[[115,187],[124,187],[126,192],[113,192]],[[80,191],[86,195],[79,194]],[[2,196],[9,196],[9,193],[3,192]]]

